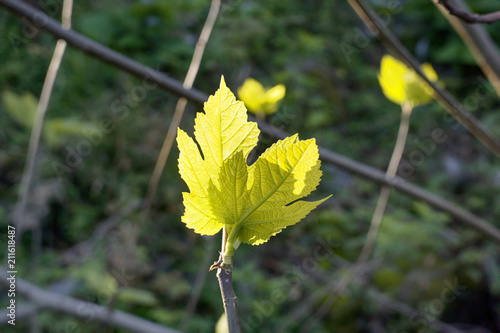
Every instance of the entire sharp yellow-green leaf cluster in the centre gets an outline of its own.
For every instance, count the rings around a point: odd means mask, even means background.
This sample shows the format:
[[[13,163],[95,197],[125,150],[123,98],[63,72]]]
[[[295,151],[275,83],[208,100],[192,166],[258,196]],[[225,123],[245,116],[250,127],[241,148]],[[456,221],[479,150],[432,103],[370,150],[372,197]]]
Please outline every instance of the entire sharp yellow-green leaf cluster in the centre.
[[[237,241],[258,245],[303,219],[328,198],[300,200],[316,189],[321,171],[314,139],[298,135],[276,142],[257,161],[246,159],[259,129],[247,121],[245,106],[221,80],[220,89],[195,120],[195,141],[177,134],[179,173],[189,187],[183,193],[182,222],[202,235],[226,227],[226,254]]]

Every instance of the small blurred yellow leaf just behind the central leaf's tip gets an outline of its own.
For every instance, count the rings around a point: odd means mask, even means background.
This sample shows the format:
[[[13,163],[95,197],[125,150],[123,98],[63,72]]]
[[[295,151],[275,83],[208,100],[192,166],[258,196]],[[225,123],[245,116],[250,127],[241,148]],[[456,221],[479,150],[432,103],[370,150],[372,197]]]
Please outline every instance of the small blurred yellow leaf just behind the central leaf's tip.
[[[278,84],[270,89],[257,80],[248,78],[238,89],[238,97],[245,103],[248,111],[259,114],[272,114],[278,110],[278,103],[285,97],[286,88]]]

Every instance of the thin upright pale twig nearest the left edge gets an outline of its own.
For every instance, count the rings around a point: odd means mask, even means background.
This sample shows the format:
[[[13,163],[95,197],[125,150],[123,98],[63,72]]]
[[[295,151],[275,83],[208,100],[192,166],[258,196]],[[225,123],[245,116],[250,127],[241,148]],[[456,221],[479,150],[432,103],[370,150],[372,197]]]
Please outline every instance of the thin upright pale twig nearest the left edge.
[[[62,11],[63,30],[71,29],[72,8],[73,8],[73,0],[64,0],[63,11]],[[14,221],[15,224],[17,225],[19,233],[23,231],[23,227],[25,224],[24,215],[26,211],[26,204],[28,203],[28,194],[30,193],[33,173],[35,172],[36,157],[40,147],[40,138],[42,136],[45,114],[47,113],[47,107],[49,105],[50,96],[52,95],[52,89],[54,88],[54,82],[56,80],[57,72],[61,65],[65,49],[66,49],[66,41],[64,39],[58,39],[56,47],[54,49],[54,54],[52,55],[49,68],[47,70],[47,74],[45,76],[42,92],[40,93],[40,99],[38,101],[36,109],[35,120],[33,122],[33,128],[31,130],[28,155],[26,157],[26,165],[23,171],[23,175],[21,178],[21,185],[19,188],[19,199],[14,216]]]

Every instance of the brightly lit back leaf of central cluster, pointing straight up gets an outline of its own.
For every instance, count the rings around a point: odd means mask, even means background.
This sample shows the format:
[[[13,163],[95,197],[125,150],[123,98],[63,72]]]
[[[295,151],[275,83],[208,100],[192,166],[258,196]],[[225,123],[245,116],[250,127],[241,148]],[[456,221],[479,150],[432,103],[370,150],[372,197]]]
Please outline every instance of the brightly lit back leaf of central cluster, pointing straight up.
[[[203,158],[191,137],[181,129],[177,134],[179,173],[190,190],[183,193],[186,210],[182,222],[201,235],[213,235],[223,224],[208,203],[208,186],[217,184],[225,159],[239,151],[245,158],[248,156],[257,144],[260,131],[256,123],[248,121],[245,106],[236,101],[224,78],[219,90],[205,103],[204,110],[205,113],[198,113],[195,119],[195,138]]]

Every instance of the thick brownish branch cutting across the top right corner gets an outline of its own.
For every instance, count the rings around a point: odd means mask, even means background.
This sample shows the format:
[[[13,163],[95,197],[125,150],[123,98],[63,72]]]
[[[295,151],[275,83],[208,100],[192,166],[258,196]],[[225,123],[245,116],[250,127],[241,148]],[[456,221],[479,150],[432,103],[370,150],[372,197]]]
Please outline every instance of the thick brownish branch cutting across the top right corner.
[[[484,26],[464,23],[459,18],[450,15],[435,0],[433,2],[460,35],[476,59],[477,64],[490,81],[493,89],[500,96],[500,52]],[[463,10],[469,10],[463,0],[455,0],[455,5]]]

